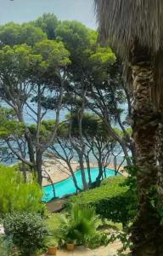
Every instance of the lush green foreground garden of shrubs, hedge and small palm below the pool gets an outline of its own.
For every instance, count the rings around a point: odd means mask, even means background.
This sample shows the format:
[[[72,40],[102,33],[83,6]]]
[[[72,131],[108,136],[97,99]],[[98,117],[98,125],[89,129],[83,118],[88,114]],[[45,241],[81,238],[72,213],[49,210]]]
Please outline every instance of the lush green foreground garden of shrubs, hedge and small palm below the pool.
[[[124,239],[134,218],[136,196],[131,199],[130,177],[108,177],[98,188],[70,196],[62,212],[52,213],[42,203],[37,182],[25,183],[15,167],[1,166],[0,172],[2,256],[56,255],[59,248],[108,246]]]

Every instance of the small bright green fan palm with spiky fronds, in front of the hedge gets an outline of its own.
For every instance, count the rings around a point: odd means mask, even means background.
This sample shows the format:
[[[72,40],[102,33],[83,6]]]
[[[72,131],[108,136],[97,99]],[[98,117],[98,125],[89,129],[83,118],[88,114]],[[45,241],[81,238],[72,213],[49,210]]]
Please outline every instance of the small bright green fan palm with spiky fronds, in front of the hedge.
[[[83,244],[87,236],[92,236],[98,227],[98,217],[93,207],[72,204],[70,212],[59,216],[57,236],[64,242]]]

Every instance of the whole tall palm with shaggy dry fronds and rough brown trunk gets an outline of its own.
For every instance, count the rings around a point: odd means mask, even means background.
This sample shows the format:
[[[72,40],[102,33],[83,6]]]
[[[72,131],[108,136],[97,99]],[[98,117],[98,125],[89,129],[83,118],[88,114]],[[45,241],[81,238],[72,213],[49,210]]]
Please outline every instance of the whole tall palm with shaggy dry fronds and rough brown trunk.
[[[121,55],[134,97],[139,207],[132,226],[132,255],[163,255],[163,227],[155,207],[162,177],[156,148],[163,103],[163,0],[94,1],[99,38]]]

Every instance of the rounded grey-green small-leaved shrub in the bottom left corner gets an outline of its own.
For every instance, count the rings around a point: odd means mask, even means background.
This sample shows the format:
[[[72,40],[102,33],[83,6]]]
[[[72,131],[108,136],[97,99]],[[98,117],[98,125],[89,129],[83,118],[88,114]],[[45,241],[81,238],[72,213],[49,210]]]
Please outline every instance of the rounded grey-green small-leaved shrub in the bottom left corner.
[[[43,246],[47,234],[45,224],[39,214],[14,213],[3,219],[5,235],[12,237],[14,246],[20,249],[20,255],[31,256]]]

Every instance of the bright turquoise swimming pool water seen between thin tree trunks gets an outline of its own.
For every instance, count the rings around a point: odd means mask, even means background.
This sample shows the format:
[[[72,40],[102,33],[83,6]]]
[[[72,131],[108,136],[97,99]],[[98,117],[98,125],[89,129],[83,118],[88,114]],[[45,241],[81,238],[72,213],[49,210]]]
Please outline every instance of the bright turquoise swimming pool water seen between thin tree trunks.
[[[85,169],[86,173],[86,179],[88,182],[88,173],[87,169]],[[119,174],[120,175],[120,174]],[[82,174],[81,171],[76,171],[75,173],[76,181],[78,186],[82,189]],[[115,171],[111,170],[109,168],[106,169],[106,177],[115,176]],[[98,177],[98,168],[91,168],[91,177],[92,182],[96,180],[96,177]],[[62,197],[64,195],[69,195],[71,193],[76,192],[76,187],[73,183],[72,177],[69,177],[59,183],[54,184],[55,188],[55,195],[56,197]],[[50,201],[53,198],[53,188],[52,185],[48,185],[42,188],[43,189],[43,201]]]

